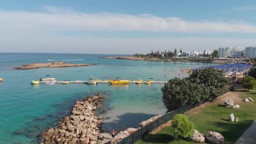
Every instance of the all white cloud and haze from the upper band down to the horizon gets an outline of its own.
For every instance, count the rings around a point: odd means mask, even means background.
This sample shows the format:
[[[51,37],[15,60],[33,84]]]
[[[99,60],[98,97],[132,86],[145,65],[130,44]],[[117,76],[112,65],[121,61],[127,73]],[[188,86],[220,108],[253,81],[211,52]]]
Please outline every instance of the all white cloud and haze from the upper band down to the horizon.
[[[56,32],[66,30],[255,34],[256,26],[244,21],[187,21],[179,17],[157,17],[150,14],[91,14],[76,12],[72,8],[44,9],[47,12],[0,11],[0,52],[133,54],[147,53],[151,49],[203,51],[222,46],[256,45],[254,37],[104,38],[56,35]]]

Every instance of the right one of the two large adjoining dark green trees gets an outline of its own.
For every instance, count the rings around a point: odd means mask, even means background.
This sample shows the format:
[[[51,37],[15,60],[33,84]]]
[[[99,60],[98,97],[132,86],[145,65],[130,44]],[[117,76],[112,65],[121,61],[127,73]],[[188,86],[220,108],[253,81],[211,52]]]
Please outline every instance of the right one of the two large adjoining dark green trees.
[[[212,67],[192,72],[190,80],[192,83],[203,84],[204,88],[208,89],[208,100],[210,101],[215,100],[228,90],[228,81],[223,76],[223,71]]]

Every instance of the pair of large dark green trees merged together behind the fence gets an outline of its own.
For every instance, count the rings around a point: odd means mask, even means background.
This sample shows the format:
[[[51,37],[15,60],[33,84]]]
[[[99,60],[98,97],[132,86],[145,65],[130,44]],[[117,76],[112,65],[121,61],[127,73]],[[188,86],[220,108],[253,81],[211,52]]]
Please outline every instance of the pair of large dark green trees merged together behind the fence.
[[[228,90],[223,71],[213,68],[199,69],[189,78],[173,78],[161,89],[163,103],[168,111],[186,104],[215,100]]]

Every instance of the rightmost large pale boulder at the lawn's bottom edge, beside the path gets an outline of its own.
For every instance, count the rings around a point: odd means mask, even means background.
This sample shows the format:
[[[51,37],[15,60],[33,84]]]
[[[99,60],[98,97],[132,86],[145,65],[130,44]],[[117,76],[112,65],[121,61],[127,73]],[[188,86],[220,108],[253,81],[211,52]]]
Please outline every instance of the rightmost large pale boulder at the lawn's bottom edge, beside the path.
[[[211,144],[224,144],[225,142],[224,136],[222,136],[220,133],[217,133],[215,131],[208,131],[206,133],[206,139]]]

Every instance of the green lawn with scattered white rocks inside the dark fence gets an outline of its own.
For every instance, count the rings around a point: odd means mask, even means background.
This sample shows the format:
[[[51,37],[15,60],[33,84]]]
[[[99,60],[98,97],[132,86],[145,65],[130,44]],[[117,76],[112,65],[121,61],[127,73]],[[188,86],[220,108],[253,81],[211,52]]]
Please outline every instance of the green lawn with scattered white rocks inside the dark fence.
[[[240,98],[250,96],[254,101],[240,103],[239,109],[230,109],[223,107],[224,101],[216,101],[214,104],[186,112],[185,115],[189,120],[194,122],[195,129],[200,133],[206,134],[207,131],[216,131],[221,133],[225,138],[225,144],[234,144],[235,141],[244,133],[251,125],[253,120],[256,120],[256,92],[234,92],[239,94]],[[238,122],[231,123],[228,121],[229,114],[233,113],[238,117]],[[136,144],[192,144],[186,139],[174,140],[174,129],[171,127],[163,128],[157,134],[149,134]]]

